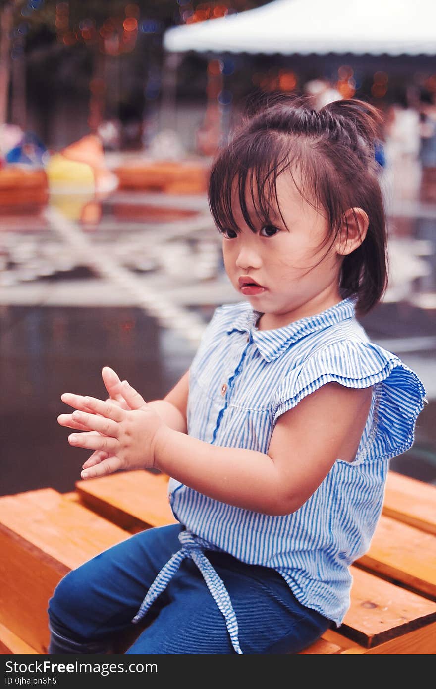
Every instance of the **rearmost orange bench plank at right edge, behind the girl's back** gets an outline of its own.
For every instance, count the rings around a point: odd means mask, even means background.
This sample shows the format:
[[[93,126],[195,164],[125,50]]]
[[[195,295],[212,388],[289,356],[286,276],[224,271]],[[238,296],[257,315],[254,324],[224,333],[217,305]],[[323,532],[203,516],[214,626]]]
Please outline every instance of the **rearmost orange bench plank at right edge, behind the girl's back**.
[[[383,513],[436,535],[436,487],[389,471]]]

